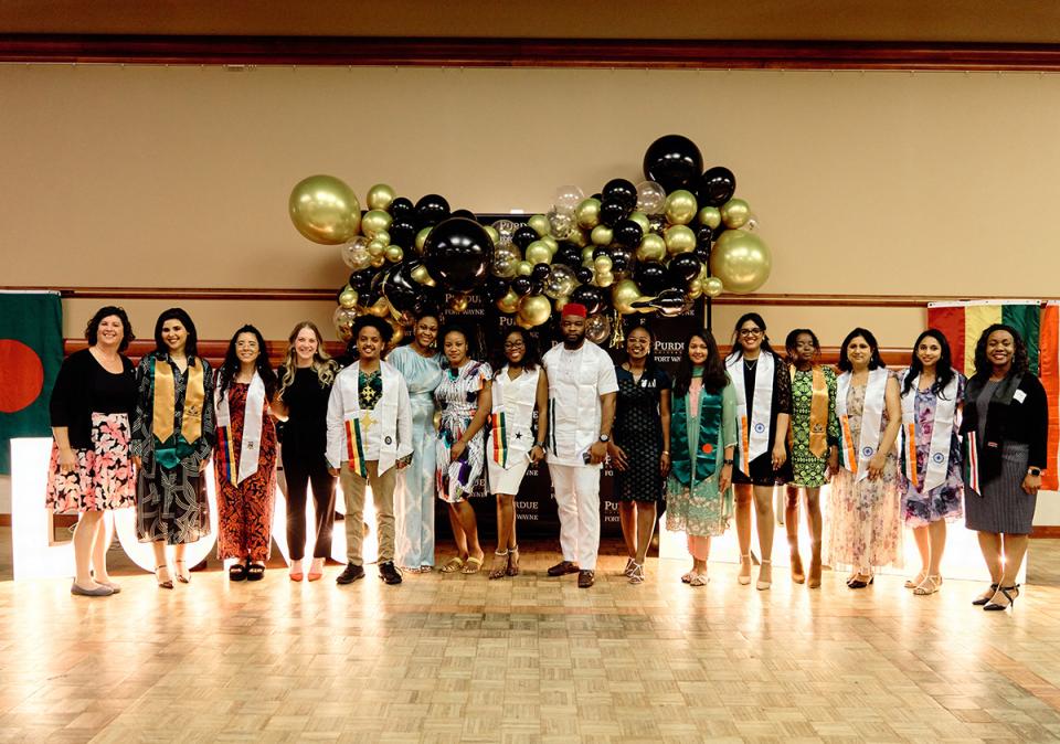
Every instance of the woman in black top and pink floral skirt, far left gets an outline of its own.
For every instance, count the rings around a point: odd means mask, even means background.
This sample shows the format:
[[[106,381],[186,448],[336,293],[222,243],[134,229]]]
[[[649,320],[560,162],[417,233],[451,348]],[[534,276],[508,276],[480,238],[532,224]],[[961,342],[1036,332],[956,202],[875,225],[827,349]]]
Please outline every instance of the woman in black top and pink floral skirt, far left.
[[[88,348],[63,362],[52,390],[51,478],[46,503],[56,513],[80,512],[74,530],[77,573],[70,591],[108,596],[120,591],[107,574],[103,512],[131,507],[130,419],[136,370],[121,352],[132,340],[125,310],[100,308],[85,329]]]

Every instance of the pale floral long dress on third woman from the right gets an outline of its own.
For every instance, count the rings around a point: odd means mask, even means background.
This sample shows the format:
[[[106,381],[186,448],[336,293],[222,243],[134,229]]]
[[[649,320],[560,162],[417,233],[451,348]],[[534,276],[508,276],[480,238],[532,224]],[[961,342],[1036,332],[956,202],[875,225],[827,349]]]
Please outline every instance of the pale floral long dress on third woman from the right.
[[[888,372],[893,379],[894,373]],[[861,436],[865,385],[847,391],[850,434]],[[880,436],[888,423],[887,408],[880,421]],[[887,454],[883,474],[876,480],[856,481],[857,475],[839,468],[831,479],[828,511],[825,514],[825,555],[833,568],[878,568],[902,565],[902,486],[904,478],[898,451]]]

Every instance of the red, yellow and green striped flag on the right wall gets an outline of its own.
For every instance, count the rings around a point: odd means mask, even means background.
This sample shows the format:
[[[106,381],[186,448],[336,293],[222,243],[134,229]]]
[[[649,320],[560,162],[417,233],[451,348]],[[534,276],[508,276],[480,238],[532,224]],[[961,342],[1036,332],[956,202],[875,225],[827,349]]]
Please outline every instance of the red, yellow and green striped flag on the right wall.
[[[1030,370],[1038,374],[1041,302],[1036,299],[983,299],[966,302],[929,302],[928,327],[950,341],[953,368],[971,378],[975,372],[975,343],[994,323],[1011,326],[1027,344]]]

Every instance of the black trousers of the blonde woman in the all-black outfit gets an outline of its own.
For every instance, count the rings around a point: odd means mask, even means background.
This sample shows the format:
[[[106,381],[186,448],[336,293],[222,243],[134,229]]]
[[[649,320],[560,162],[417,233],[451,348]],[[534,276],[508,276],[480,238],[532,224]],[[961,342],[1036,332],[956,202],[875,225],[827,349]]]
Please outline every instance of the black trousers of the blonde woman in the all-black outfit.
[[[331,528],[335,524],[335,477],[328,472],[324,453],[305,456],[280,450],[287,480],[287,549],[292,561],[300,561],[306,548],[307,487],[312,483],[312,508],[317,517],[317,539],[312,557],[331,554]]]

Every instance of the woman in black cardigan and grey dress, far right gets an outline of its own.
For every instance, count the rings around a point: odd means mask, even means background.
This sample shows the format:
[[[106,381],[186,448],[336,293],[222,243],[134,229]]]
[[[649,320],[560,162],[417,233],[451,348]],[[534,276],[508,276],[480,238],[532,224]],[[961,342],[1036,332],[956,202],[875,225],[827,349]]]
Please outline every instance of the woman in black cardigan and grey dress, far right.
[[[965,390],[965,523],[979,533],[990,588],[972,604],[1006,609],[1019,596],[1016,575],[1027,553],[1041,470],[1049,401],[1028,370],[1027,348],[1011,326],[995,323],[975,346]]]

